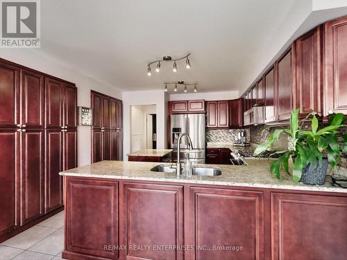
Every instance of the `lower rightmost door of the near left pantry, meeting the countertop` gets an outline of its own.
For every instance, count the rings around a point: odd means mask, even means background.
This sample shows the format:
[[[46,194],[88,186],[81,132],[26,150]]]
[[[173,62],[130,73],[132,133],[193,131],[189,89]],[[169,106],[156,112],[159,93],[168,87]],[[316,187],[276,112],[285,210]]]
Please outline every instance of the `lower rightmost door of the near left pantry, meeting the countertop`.
[[[64,171],[77,167],[77,130],[64,132]]]

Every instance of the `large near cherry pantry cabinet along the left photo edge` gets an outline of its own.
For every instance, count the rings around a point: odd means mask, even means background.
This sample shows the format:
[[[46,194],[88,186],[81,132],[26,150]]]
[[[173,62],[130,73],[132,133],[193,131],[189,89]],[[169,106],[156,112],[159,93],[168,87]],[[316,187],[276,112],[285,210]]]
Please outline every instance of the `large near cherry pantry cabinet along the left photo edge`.
[[[58,210],[58,173],[77,166],[76,87],[51,80],[0,59],[0,241]]]

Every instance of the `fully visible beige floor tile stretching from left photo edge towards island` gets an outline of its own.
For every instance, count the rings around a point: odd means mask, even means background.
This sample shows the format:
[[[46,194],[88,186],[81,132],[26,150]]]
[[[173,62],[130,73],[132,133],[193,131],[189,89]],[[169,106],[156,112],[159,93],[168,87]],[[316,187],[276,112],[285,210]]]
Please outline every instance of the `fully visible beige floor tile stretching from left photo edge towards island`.
[[[41,241],[46,236],[49,236],[56,231],[57,229],[51,227],[40,227],[36,225],[20,234],[17,234],[17,236],[13,236],[11,239],[1,243],[1,245],[9,245],[13,248],[28,249],[35,245],[35,243]]]

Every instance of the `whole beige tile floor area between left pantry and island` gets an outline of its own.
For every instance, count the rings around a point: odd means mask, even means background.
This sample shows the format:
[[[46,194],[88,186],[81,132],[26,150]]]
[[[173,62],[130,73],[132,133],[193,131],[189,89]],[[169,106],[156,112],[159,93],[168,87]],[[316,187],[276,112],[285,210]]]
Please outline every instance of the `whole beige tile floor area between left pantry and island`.
[[[63,259],[64,211],[0,244],[0,260]]]

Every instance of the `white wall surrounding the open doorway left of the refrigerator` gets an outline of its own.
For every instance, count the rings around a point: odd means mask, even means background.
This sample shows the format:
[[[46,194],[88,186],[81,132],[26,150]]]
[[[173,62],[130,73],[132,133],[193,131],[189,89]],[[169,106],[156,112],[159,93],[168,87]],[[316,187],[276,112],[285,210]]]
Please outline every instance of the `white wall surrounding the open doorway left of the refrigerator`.
[[[131,106],[132,105],[156,105],[157,114],[157,148],[167,147],[167,97],[162,89],[123,92],[123,153],[130,153],[130,134],[131,134]],[[124,156],[124,160],[128,157]]]

